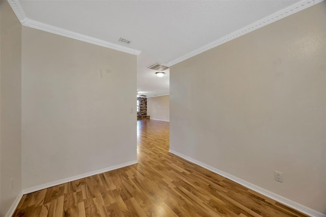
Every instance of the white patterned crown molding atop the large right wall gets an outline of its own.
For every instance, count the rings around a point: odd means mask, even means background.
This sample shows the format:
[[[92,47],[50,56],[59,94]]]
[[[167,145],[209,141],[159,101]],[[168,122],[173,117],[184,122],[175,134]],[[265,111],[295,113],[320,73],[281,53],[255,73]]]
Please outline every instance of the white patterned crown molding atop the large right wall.
[[[213,42],[211,42],[209,44],[206,44],[206,45],[204,45],[204,46],[202,46],[202,47],[200,47],[200,48],[198,48],[196,50],[193,50],[193,51],[189,52],[186,55],[183,55],[182,57],[179,57],[179,58],[169,62],[168,66],[169,67],[173,66],[173,65],[175,65],[177,63],[180,63],[180,62],[182,62],[184,60],[187,60],[187,59],[192,58],[192,57],[194,57],[196,55],[199,55],[199,53],[202,53],[202,52],[204,52],[206,50],[209,50],[211,48],[214,48],[216,46],[224,44],[224,43],[226,43],[228,41],[231,41],[231,40],[233,40],[235,38],[238,38],[238,37],[240,37],[242,35],[250,33],[250,32],[252,32],[254,30],[257,30],[257,29],[265,26],[265,25],[268,25],[268,24],[270,24],[272,22],[280,20],[280,19],[282,19],[284,17],[287,17],[287,16],[289,16],[291,14],[294,14],[296,12],[302,11],[302,10],[304,10],[306,8],[309,8],[309,7],[311,7],[311,6],[315,5],[315,4],[323,2],[323,1],[324,0],[302,0],[302,1],[298,2],[298,3],[290,5],[289,7],[286,7],[284,9],[280,10],[280,11],[277,11],[274,14],[271,14],[271,15],[269,15],[267,17],[264,17],[264,18],[262,18],[262,19],[260,19],[260,20],[258,20],[256,22],[254,22],[254,23],[251,23],[251,24],[245,26],[244,28],[241,28],[241,29],[239,29],[239,30],[237,30],[237,31],[225,36],[225,37],[222,37],[222,38],[220,38],[218,40],[215,40],[215,41],[213,41]]]

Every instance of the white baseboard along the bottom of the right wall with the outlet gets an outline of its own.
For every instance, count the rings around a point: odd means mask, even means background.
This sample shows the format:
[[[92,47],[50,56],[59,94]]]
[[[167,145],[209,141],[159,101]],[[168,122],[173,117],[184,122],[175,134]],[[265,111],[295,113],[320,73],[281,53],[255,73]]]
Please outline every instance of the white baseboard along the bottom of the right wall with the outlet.
[[[173,150],[170,149],[169,152],[172,153],[172,154],[175,154],[175,155],[177,155],[177,156],[179,156],[181,158],[184,158],[184,159],[186,159],[188,161],[191,161],[194,164],[197,164],[197,165],[199,165],[199,166],[201,166],[201,167],[203,167],[203,168],[205,168],[207,170],[210,170],[210,171],[212,171],[214,173],[217,173],[217,174],[219,174],[221,176],[224,176],[224,177],[226,177],[226,178],[228,178],[228,179],[230,179],[230,180],[232,180],[232,181],[234,181],[234,182],[236,182],[238,184],[241,184],[241,185],[243,185],[245,187],[248,187],[249,189],[252,189],[255,192],[258,192],[258,193],[260,193],[260,194],[262,194],[262,195],[264,195],[264,196],[266,196],[268,198],[271,198],[271,199],[273,199],[275,201],[278,201],[278,202],[280,202],[280,203],[282,203],[282,204],[284,204],[284,205],[286,205],[288,207],[291,207],[292,209],[303,212],[303,213],[305,213],[305,214],[307,214],[309,216],[326,217],[326,215],[321,213],[321,212],[318,212],[318,211],[316,211],[314,209],[311,209],[311,208],[309,208],[307,206],[304,206],[302,204],[291,201],[291,200],[289,200],[289,199],[287,199],[285,197],[282,197],[280,195],[277,195],[277,194],[275,194],[273,192],[269,192],[269,191],[267,191],[266,189],[264,189],[262,187],[259,187],[257,185],[254,185],[254,184],[248,182],[248,181],[244,181],[244,180],[242,180],[242,179],[240,179],[238,177],[235,177],[235,176],[233,176],[231,174],[228,174],[226,172],[223,172],[221,170],[218,170],[216,168],[208,166],[208,165],[204,164],[201,161],[195,160],[195,159],[193,159],[191,157],[188,157],[186,155],[183,155],[183,154],[181,154],[181,153],[179,153],[177,151],[173,151]]]

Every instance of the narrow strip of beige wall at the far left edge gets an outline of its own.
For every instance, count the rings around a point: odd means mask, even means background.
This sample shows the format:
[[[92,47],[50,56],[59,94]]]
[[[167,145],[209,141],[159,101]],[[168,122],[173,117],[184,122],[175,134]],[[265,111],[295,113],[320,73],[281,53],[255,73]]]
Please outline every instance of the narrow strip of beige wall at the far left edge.
[[[21,192],[21,24],[7,1],[0,5],[0,215],[4,216]]]

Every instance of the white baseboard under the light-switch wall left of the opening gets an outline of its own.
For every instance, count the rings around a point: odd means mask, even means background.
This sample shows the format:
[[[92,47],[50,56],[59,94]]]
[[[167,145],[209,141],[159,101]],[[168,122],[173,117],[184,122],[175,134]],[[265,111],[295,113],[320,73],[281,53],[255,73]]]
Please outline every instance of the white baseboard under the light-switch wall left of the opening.
[[[27,189],[23,189],[22,193],[24,195],[29,194],[29,193],[32,193],[32,192],[40,191],[40,190],[48,188],[48,187],[53,187],[53,186],[56,186],[56,185],[59,185],[59,184],[75,181],[75,180],[78,180],[78,179],[82,179],[82,178],[97,175],[97,174],[100,174],[100,173],[105,173],[105,172],[108,172],[108,171],[120,169],[120,168],[127,167],[127,166],[134,165],[134,164],[138,164],[138,161],[133,160],[133,161],[130,161],[130,162],[126,162],[124,164],[119,164],[119,165],[116,165],[116,166],[112,166],[112,167],[108,167],[108,168],[104,168],[104,169],[100,169],[100,170],[95,170],[95,171],[80,174],[80,175],[77,175],[77,176],[72,176],[72,177],[69,177],[69,178],[60,179],[60,180],[57,180],[57,181],[52,181],[52,182],[49,182],[49,183],[45,183],[45,184],[41,184],[41,185],[38,185],[38,186],[30,187],[30,188],[27,188]]]

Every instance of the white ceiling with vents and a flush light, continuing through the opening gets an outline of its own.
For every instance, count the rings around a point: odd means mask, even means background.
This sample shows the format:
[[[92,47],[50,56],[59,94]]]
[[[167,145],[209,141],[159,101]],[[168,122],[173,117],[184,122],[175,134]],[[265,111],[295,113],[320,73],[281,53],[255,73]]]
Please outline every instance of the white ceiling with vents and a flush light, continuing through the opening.
[[[148,66],[154,63],[170,65],[194,56],[196,53],[193,51],[304,1],[10,2],[12,6],[13,3],[18,5],[20,15],[25,14],[30,20],[141,50],[138,56],[138,92],[155,96],[169,94],[170,72],[167,70],[166,76],[157,77],[154,70],[147,69]],[[121,44],[118,42],[120,37],[131,43]],[[189,53],[191,55],[185,56]]]

